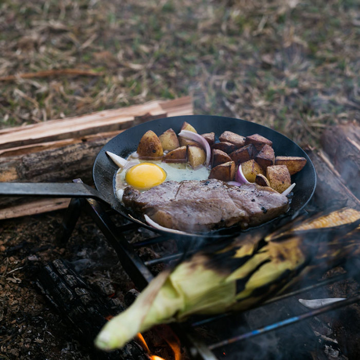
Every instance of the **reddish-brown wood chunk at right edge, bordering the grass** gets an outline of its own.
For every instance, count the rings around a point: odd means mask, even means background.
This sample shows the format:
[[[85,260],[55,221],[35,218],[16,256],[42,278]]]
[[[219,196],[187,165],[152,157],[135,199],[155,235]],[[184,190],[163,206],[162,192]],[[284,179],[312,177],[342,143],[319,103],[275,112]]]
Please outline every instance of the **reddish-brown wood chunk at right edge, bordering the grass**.
[[[355,122],[336,125],[321,136],[323,150],[347,187],[360,199],[360,127]]]

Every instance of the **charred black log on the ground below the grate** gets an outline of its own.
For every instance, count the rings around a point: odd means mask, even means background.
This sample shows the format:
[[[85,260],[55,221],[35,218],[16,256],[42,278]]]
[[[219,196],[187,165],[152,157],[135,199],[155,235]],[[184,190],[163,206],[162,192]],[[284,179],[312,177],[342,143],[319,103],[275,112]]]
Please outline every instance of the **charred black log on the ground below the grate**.
[[[106,321],[123,310],[121,304],[102,296],[73,269],[61,260],[46,265],[39,273],[36,284],[40,292],[56,308],[83,345],[91,349],[94,358],[146,360],[149,357],[135,342],[122,349],[105,353],[94,347],[94,339]]]

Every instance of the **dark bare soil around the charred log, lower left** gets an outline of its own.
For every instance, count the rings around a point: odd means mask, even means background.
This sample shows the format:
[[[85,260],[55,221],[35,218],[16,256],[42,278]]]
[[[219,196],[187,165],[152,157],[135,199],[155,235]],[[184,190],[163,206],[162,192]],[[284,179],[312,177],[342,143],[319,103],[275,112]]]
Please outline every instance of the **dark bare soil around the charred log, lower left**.
[[[124,292],[134,286],[115,252],[85,214],[69,242],[54,244],[63,211],[24,217],[0,224],[0,358],[87,359],[85,348],[67,323],[51,308],[34,284],[49,261],[69,261],[100,294]],[[101,260],[101,261],[100,261]],[[111,279],[111,280],[110,280]],[[118,289],[123,289],[121,294]]]

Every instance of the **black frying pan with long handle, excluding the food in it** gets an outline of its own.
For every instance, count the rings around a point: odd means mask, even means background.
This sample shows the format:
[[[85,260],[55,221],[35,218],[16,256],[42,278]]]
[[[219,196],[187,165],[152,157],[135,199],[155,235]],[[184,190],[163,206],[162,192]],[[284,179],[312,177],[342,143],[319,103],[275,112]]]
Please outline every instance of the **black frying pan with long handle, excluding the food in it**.
[[[294,196],[291,201],[290,209],[286,215],[292,216],[301,211],[311,199],[316,186],[315,168],[308,155],[297,146],[295,142],[272,129],[254,122],[208,115],[175,116],[156,119],[136,125],[115,136],[100,150],[94,162],[93,178],[97,191],[85,184],[73,183],[0,183],[0,195],[93,197],[111,205],[112,208],[122,214],[125,218],[151,228],[147,224],[143,224],[141,221],[131,217],[128,211],[116,199],[114,192],[114,177],[118,168],[109,156],[106,155],[106,151],[110,151],[122,157],[127,157],[130,153],[136,151],[142,135],[148,130],[153,130],[157,135],[160,135],[165,130],[172,128],[178,133],[184,121],[193,125],[198,133],[214,132],[216,137],[219,137],[224,131],[232,131],[242,136],[258,133],[273,141],[273,148],[276,155],[302,156],[306,158],[307,164],[305,167],[292,176],[292,182],[295,182],[296,186],[293,191]],[[205,235],[206,237],[221,237],[229,236],[231,234],[235,235],[235,233],[239,231],[239,227],[231,227],[228,229],[211,231],[206,234],[193,234],[192,236],[203,237]]]

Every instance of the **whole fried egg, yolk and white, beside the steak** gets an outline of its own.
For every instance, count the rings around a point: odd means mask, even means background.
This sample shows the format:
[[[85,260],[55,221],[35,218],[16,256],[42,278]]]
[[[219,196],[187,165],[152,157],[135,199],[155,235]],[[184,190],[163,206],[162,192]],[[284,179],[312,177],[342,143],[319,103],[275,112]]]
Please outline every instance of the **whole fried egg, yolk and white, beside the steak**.
[[[140,192],[164,181],[205,180],[210,170],[206,166],[193,169],[187,163],[163,163],[161,160],[140,160],[128,157],[129,164],[118,169],[115,177],[116,196],[121,201],[123,189],[131,185]]]

